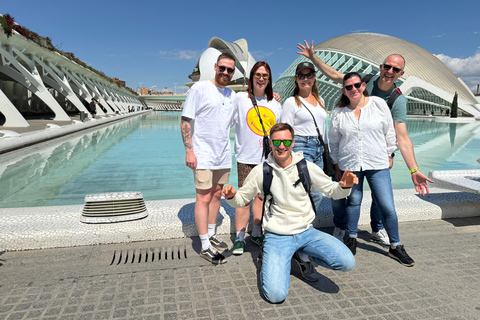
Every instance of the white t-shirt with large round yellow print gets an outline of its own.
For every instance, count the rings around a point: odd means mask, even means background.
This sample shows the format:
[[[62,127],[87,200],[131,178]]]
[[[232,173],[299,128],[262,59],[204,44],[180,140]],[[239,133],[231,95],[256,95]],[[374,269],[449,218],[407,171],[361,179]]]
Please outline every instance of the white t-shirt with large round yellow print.
[[[282,107],[275,99],[267,100],[267,96],[256,97],[262,122],[270,135],[270,128],[280,120]],[[240,92],[233,99],[235,108],[235,154],[237,161],[245,164],[259,164],[264,159],[263,128],[258,119],[252,100],[247,92]]]

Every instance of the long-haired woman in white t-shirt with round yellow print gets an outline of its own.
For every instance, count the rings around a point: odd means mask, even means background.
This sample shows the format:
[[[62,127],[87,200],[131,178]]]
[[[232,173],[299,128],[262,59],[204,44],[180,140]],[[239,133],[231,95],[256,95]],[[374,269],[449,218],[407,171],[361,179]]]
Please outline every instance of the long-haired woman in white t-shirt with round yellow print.
[[[250,171],[263,158],[263,138],[270,134],[270,128],[280,119],[282,107],[274,99],[272,71],[265,61],[258,61],[250,71],[247,92],[238,93],[233,101],[235,108],[235,154],[237,158],[238,187],[241,188]],[[263,201],[257,195],[253,201],[253,243],[263,243],[262,216]],[[235,210],[236,239],[232,253],[241,255],[245,247],[245,230],[250,219],[250,204]]]

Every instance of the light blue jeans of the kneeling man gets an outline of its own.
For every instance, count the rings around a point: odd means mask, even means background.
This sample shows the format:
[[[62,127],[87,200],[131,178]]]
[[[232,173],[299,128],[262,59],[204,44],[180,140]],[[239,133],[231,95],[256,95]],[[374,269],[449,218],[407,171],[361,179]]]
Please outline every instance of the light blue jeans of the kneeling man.
[[[355,258],[341,241],[313,227],[295,235],[265,232],[260,277],[263,295],[272,303],[287,297],[295,251],[309,255],[319,265],[332,270],[349,271],[355,266]]]

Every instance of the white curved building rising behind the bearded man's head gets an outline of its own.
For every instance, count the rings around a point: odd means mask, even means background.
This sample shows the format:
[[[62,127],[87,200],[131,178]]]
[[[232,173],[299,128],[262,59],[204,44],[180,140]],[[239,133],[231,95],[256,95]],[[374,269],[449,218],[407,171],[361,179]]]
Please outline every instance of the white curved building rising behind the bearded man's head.
[[[213,37],[208,42],[208,48],[205,50],[193,70],[193,73],[188,77],[192,82],[185,85],[191,87],[197,81],[211,80],[215,77],[214,65],[220,54],[228,52],[231,53],[235,59],[235,73],[229,88],[238,91],[244,90],[244,86],[248,83],[248,75],[255,64],[255,59],[248,52],[248,44],[245,39],[239,39],[234,42],[226,42],[220,38]]]

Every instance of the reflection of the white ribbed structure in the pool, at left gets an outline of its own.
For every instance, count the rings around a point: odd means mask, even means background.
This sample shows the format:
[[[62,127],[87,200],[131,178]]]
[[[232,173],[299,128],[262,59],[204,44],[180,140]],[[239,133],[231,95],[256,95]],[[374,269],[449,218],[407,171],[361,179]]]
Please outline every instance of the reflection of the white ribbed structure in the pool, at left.
[[[0,207],[42,206],[92,163],[138,127],[126,120],[109,127],[69,136],[2,155]]]

